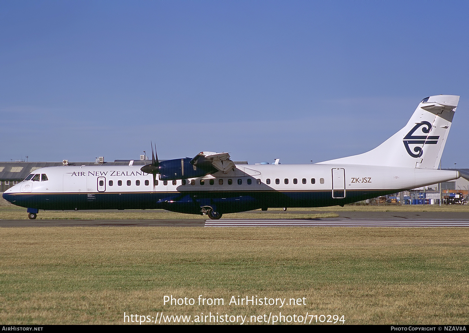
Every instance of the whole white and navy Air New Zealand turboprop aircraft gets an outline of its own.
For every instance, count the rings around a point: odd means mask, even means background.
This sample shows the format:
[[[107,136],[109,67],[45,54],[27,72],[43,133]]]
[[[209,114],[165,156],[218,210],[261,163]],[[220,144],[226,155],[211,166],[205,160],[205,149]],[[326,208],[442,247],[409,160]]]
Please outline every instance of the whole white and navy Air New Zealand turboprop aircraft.
[[[424,98],[407,125],[360,155],[306,165],[235,165],[228,153],[144,167],[45,167],[9,188],[3,198],[38,210],[165,209],[206,214],[269,207],[343,206],[460,177],[438,170],[459,96]],[[158,175],[158,177],[157,177]],[[158,178],[158,179],[157,179]]]

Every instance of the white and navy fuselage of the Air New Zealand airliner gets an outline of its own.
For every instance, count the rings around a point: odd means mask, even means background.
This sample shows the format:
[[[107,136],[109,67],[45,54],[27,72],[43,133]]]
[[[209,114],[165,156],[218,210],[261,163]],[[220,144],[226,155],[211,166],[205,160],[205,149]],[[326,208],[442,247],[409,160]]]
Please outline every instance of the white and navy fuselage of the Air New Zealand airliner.
[[[164,208],[198,213],[210,205],[231,212],[343,205],[459,177],[457,171],[332,164],[237,165],[227,174],[155,185],[152,174],[139,166],[45,167],[34,174],[45,174],[47,180],[22,181],[5,192],[5,199],[37,209]]]

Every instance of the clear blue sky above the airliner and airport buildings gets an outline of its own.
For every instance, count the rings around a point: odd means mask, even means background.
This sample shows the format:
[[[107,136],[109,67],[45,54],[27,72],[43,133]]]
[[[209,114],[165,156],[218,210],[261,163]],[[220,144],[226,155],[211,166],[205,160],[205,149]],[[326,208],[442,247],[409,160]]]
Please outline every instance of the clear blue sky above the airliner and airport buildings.
[[[469,167],[468,80],[468,1],[3,0],[0,160],[319,162],[457,94]]]

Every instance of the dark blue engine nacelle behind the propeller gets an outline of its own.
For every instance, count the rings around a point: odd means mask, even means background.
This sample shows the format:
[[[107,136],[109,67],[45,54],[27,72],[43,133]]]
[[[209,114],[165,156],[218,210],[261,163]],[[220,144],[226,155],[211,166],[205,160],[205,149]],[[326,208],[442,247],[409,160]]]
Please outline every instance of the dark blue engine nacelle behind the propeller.
[[[162,181],[173,181],[176,179],[187,179],[203,177],[218,170],[212,166],[194,166],[190,163],[192,159],[168,159],[159,162],[158,173]]]

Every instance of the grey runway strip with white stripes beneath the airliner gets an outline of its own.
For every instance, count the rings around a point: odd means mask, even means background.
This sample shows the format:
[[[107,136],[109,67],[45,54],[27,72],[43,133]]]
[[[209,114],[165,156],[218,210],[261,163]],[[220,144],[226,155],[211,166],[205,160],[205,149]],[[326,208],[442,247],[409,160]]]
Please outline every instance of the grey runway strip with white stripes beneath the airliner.
[[[290,213],[305,216],[311,211],[272,210],[275,218],[263,218],[264,212],[253,210],[256,218],[224,218],[210,220],[202,218],[183,219],[0,219],[0,227],[132,227],[132,226],[172,226],[172,227],[467,227],[469,212],[444,211],[321,211],[336,213],[338,217],[291,219]],[[308,214],[308,215],[307,215]],[[258,217],[257,217],[258,216]],[[272,216],[272,215],[271,215]],[[277,217],[278,216],[278,217]],[[234,215],[236,217],[236,215]]]

